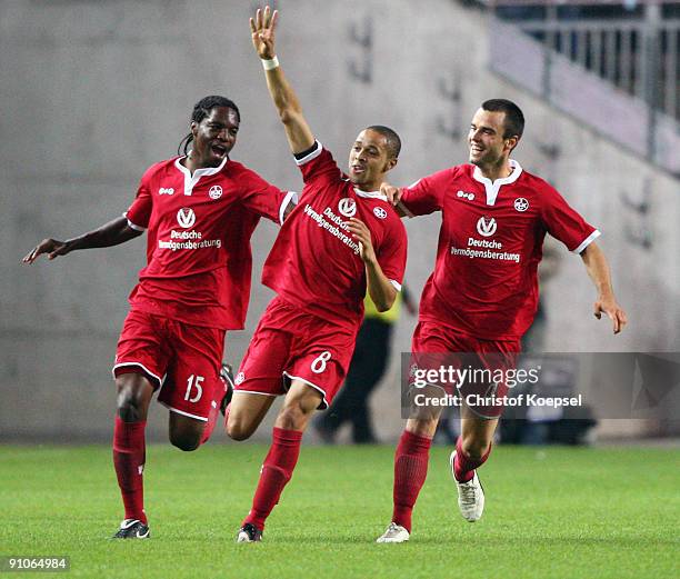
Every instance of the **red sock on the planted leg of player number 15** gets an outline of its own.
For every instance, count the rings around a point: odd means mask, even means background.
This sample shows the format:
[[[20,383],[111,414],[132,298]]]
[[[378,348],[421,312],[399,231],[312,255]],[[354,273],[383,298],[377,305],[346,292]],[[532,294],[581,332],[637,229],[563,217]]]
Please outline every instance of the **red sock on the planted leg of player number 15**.
[[[116,417],[113,427],[113,466],[126,506],[126,519],[138,519],[147,525],[144,513],[144,469],[147,421],[123,422]]]

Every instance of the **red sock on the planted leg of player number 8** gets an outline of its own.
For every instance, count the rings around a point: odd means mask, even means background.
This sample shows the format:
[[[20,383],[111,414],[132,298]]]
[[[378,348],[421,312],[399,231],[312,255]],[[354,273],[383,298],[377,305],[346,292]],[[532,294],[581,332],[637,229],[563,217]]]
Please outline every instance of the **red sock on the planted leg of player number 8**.
[[[252,499],[252,509],[243,520],[264,530],[264,521],[292,477],[300,456],[302,432],[298,430],[273,429],[273,440],[260,471],[260,481]]]

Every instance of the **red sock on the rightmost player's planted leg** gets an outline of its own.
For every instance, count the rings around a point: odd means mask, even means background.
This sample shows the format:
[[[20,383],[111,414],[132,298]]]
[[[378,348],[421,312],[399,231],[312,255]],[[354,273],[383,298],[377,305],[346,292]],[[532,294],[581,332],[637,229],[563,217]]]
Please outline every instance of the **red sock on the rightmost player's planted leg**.
[[[428,476],[432,439],[404,430],[394,453],[394,511],[392,521],[411,532],[413,506]]]

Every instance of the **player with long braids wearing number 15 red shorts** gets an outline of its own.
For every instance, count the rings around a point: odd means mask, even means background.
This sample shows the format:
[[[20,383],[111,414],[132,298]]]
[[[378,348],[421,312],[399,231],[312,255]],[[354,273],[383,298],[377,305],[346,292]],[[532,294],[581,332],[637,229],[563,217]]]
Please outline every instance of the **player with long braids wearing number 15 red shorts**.
[[[67,241],[46,239],[23,258],[32,263],[47,253],[51,260],[149,231],[148,264],[130,295],[113,366],[113,465],[126,510],[114,538],[149,537],[142,472],[153,392],[160,389],[158,400],[170,410],[172,445],[196,450],[210,436],[224,397],[224,332],[242,329],[246,319],[250,237],[260,217],[282,220],[294,196],[229,159],[239,124],[231,100],[200,100],[184,154],[151,166],[122,217]]]

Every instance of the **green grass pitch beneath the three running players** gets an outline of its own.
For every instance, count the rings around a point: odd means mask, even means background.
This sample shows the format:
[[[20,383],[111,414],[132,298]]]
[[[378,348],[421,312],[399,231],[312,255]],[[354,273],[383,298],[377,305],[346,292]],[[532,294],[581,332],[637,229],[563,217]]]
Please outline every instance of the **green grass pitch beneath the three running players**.
[[[458,513],[449,450],[433,448],[410,542],[376,545],[390,520],[393,447],[303,446],[264,541],[236,545],[266,450],[151,446],[152,538],[111,541],[122,512],[109,447],[0,446],[0,555],[70,556],[70,571],[37,577],[679,576],[677,448],[501,446],[480,471],[476,523]]]

